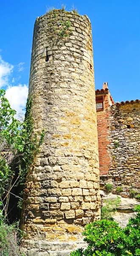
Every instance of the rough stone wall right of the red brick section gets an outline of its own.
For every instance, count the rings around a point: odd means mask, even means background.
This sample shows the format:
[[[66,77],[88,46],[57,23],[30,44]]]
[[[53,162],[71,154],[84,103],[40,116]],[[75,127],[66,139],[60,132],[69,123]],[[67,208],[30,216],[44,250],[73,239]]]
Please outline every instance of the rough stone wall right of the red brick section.
[[[101,188],[112,183],[112,192],[121,187],[123,197],[131,190],[140,192],[140,101],[122,102],[108,107],[108,152],[111,163],[107,175],[101,176]]]

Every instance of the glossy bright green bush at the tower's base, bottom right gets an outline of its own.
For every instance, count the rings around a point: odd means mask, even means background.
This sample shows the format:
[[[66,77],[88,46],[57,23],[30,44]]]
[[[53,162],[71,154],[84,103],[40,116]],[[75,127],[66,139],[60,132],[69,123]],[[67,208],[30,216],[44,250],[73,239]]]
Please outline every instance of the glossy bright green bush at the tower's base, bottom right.
[[[140,256],[140,205],[136,218],[126,228],[115,221],[95,221],[85,226],[83,235],[87,249],[73,251],[70,256]]]

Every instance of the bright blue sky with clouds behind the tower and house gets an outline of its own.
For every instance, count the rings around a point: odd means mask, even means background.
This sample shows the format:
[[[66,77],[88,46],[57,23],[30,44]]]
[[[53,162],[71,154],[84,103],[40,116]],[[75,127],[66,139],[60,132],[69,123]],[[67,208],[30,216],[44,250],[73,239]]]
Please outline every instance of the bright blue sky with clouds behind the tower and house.
[[[140,99],[140,0],[1,0],[0,87],[12,107],[26,102],[36,17],[61,4],[90,17],[96,89],[108,81],[115,102]]]

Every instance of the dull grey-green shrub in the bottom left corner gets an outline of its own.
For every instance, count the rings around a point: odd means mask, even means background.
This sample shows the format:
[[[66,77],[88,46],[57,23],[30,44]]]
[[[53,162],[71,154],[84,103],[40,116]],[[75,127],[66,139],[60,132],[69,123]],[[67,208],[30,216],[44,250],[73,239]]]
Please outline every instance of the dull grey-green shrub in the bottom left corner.
[[[19,250],[20,230],[17,224],[9,225],[3,221],[0,225],[0,256],[22,256]]]

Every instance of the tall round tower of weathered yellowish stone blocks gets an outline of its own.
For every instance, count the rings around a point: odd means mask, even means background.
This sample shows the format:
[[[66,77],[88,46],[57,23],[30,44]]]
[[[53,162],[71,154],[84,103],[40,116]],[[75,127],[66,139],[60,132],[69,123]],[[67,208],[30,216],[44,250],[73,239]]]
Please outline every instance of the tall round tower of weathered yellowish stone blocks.
[[[91,24],[54,10],[34,26],[29,97],[34,131],[46,135],[28,177],[24,253],[66,256],[100,219]]]

